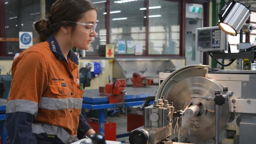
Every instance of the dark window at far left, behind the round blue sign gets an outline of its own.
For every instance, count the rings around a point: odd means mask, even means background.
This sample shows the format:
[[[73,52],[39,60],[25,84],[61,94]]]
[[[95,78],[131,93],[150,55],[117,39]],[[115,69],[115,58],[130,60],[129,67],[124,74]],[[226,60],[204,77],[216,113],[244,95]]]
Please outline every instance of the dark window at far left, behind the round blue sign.
[[[40,19],[40,0],[5,0],[5,37],[19,38],[19,31],[30,31],[33,38],[37,33],[33,24]],[[34,42],[33,42],[34,44]],[[19,41],[5,42],[6,56],[19,53]]]

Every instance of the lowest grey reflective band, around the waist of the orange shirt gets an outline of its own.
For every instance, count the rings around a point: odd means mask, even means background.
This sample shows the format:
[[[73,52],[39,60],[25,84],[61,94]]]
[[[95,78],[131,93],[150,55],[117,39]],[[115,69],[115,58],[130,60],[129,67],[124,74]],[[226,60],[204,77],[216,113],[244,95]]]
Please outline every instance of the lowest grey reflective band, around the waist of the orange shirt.
[[[57,135],[57,137],[65,144],[69,144],[74,140],[78,140],[77,135],[70,135],[62,127],[52,126],[49,124],[32,124],[32,133],[40,134],[47,133],[47,135]]]

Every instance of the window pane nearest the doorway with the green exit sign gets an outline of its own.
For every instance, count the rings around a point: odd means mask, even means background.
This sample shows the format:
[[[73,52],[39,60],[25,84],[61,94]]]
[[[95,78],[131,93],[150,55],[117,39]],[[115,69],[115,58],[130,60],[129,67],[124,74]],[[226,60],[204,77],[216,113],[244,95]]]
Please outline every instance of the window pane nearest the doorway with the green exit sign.
[[[180,3],[170,0],[149,0],[148,54],[179,54]]]

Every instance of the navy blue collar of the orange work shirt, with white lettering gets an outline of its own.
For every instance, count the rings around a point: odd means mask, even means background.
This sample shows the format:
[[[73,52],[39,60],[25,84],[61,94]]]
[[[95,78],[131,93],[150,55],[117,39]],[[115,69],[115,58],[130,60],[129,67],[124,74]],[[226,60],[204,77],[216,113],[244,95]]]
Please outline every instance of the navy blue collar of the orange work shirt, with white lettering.
[[[51,51],[58,57],[59,60],[64,59],[65,61],[67,61],[65,56],[61,52],[61,49],[59,47],[58,42],[56,41],[56,39],[54,38],[53,35],[50,35],[48,37],[47,42],[49,43]],[[76,54],[72,50],[69,51],[67,57],[71,61],[73,61],[76,65],[78,65],[78,58],[77,58]]]

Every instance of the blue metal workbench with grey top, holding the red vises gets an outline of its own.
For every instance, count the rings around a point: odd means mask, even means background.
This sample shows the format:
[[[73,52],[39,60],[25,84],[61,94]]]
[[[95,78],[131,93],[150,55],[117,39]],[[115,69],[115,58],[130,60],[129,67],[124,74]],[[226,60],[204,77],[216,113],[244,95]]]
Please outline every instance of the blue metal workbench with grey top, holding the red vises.
[[[145,98],[155,96],[158,86],[126,87],[127,95],[124,96],[124,107],[142,105]],[[82,109],[99,110],[99,131],[104,133],[105,109],[122,107],[122,103],[109,103],[108,96],[100,96],[98,89],[85,90],[83,93]]]

